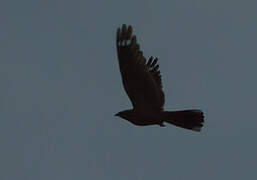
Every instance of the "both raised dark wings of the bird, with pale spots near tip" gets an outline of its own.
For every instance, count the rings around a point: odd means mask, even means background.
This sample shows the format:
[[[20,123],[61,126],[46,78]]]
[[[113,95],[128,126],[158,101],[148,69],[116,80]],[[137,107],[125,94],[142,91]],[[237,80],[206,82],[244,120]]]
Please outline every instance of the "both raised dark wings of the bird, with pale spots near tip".
[[[116,45],[123,86],[136,110],[162,110],[164,93],[158,59],[146,62],[132,27],[118,28]]]

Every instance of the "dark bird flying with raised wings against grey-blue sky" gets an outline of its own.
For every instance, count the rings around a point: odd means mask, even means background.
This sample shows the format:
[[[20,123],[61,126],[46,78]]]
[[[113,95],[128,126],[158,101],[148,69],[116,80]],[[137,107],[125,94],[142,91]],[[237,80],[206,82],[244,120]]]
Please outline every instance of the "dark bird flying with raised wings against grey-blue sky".
[[[164,110],[165,97],[158,58],[151,56],[146,60],[131,25],[123,24],[117,29],[116,47],[122,84],[133,109],[120,111],[115,116],[136,126],[165,127],[168,123],[200,132],[204,123],[201,110]]]

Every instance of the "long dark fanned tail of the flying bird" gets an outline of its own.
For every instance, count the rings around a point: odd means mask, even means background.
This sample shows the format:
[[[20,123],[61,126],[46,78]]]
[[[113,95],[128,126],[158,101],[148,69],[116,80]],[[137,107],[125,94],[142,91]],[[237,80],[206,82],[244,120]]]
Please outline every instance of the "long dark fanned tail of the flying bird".
[[[163,120],[175,126],[199,132],[203,127],[204,116],[203,112],[197,109],[164,111]]]

